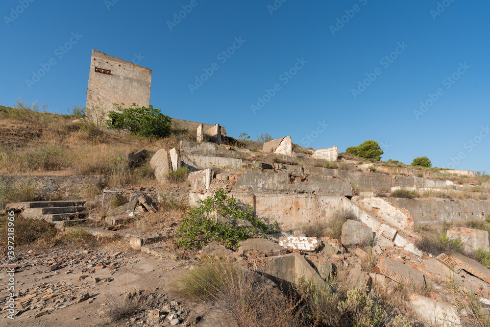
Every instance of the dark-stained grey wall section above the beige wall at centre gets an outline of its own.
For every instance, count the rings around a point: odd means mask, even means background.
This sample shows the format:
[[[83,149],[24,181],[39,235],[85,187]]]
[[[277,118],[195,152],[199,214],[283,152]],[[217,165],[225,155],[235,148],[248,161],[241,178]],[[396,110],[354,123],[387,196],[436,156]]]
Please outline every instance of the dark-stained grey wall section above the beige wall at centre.
[[[343,178],[325,175],[298,175],[294,171],[248,169],[237,178],[235,190],[254,192],[352,195],[352,186]]]

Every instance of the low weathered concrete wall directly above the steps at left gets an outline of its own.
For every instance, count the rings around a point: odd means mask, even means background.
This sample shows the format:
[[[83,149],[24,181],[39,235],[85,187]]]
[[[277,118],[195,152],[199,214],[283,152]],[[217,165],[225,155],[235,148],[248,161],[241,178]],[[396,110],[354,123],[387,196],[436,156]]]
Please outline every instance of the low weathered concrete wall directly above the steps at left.
[[[80,190],[86,187],[102,189],[106,186],[106,179],[105,176],[0,175],[0,185],[7,188],[35,188],[37,200],[58,200],[78,198],[81,196]]]

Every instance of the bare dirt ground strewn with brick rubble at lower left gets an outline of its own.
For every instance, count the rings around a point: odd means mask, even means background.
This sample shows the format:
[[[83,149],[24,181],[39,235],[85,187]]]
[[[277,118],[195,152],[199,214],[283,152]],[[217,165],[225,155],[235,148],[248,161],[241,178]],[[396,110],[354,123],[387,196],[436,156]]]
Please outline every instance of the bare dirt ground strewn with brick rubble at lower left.
[[[172,292],[171,285],[186,273],[186,262],[164,260],[141,252],[90,250],[75,247],[18,253],[15,262],[14,320],[2,310],[7,326],[235,326],[219,307],[189,302]],[[4,258],[3,262],[7,262]],[[53,263],[57,268],[53,271]],[[6,298],[7,267],[2,268],[0,296]],[[84,277],[85,276],[85,277]],[[128,292],[149,295],[147,310],[111,322],[111,300]],[[87,296],[88,293],[88,296]],[[4,309],[4,308],[2,308]],[[156,315],[156,318],[155,318]]]

